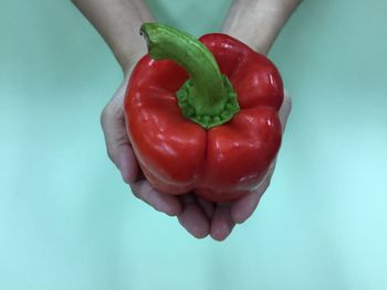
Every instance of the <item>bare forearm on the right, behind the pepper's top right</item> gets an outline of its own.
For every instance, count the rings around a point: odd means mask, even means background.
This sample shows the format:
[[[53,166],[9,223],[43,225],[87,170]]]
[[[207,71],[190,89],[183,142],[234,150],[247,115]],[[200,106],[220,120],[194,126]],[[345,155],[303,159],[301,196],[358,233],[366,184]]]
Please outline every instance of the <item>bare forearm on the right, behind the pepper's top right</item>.
[[[266,54],[301,0],[234,0],[222,32]]]

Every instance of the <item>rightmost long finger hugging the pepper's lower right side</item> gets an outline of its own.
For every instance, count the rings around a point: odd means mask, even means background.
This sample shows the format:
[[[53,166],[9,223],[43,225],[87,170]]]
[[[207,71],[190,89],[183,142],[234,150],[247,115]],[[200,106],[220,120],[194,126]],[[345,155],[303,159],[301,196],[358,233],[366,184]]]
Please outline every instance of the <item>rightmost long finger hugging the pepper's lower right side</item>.
[[[266,176],[262,180],[262,182],[254,189],[251,193],[243,196],[242,198],[236,201],[231,204],[231,217],[232,221],[237,224],[241,224],[245,222],[255,211],[263,193],[269,187],[271,178],[274,172],[275,160],[270,167]]]

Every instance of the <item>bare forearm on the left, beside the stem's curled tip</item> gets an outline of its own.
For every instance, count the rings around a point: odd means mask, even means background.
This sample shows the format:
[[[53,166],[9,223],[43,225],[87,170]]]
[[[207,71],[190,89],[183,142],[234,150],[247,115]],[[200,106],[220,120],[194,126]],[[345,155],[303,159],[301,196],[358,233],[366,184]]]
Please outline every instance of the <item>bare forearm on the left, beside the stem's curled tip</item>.
[[[154,21],[143,0],[72,0],[113,51],[123,71],[146,53],[139,35],[144,22]]]

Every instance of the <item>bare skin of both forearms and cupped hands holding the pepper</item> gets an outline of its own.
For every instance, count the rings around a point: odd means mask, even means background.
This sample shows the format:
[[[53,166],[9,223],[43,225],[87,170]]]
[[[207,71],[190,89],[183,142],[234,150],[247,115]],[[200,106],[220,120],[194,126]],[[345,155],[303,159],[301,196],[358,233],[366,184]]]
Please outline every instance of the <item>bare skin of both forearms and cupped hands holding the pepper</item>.
[[[231,203],[210,203],[188,193],[181,196],[161,194],[144,179],[128,139],[124,95],[127,79],[137,61],[147,53],[138,31],[144,22],[154,18],[142,0],[73,0],[104,37],[116,56],[124,80],[101,116],[108,157],[130,185],[135,196],[155,210],[177,216],[179,223],[195,237],[210,235],[216,240],[226,239],[236,224],[248,219],[270,184],[275,162],[269,168],[260,185],[249,195]],[[237,37],[250,47],[266,54],[287,18],[301,0],[234,0],[222,26],[222,33]],[[291,109],[285,92],[280,109],[282,130]]]

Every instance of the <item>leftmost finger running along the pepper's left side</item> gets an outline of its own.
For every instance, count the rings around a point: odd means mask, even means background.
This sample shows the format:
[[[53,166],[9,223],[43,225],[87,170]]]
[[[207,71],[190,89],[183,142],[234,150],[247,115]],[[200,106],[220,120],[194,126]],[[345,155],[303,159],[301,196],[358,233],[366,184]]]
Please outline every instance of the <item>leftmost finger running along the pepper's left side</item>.
[[[105,136],[107,154],[119,169],[126,183],[132,183],[138,174],[138,164],[127,136],[123,108],[125,84],[107,104],[101,115],[101,125]]]

